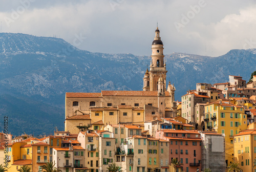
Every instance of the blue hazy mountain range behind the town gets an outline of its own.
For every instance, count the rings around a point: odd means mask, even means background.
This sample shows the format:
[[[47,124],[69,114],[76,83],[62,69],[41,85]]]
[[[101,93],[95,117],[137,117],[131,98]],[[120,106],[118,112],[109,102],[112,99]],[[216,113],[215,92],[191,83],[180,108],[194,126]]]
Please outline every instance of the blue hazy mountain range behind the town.
[[[0,117],[9,116],[13,135],[50,134],[55,126],[64,130],[66,92],[142,90],[151,59],[92,53],[60,38],[22,33],[0,33],[0,44]],[[256,49],[230,50],[219,57],[172,53],[165,59],[167,81],[175,84],[180,100],[197,82],[226,82],[228,75],[248,80],[255,71]]]

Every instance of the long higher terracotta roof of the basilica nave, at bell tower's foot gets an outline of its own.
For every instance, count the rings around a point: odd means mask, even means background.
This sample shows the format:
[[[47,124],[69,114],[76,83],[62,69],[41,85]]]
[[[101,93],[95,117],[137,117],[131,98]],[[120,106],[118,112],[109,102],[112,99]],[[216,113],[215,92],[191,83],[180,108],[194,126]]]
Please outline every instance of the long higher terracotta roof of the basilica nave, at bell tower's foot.
[[[102,96],[158,96],[157,91],[101,91]],[[165,92],[169,96],[169,92]]]

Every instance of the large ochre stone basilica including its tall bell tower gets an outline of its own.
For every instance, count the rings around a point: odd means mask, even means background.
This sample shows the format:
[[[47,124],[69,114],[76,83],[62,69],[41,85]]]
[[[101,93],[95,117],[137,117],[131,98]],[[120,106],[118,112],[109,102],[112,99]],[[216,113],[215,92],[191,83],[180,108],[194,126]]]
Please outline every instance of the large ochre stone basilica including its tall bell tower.
[[[92,125],[101,130],[108,124],[137,125],[176,117],[175,87],[166,88],[166,63],[163,42],[157,28],[152,42],[150,70],[143,78],[143,91],[101,91],[101,93],[66,93],[65,131],[78,133],[77,125]]]

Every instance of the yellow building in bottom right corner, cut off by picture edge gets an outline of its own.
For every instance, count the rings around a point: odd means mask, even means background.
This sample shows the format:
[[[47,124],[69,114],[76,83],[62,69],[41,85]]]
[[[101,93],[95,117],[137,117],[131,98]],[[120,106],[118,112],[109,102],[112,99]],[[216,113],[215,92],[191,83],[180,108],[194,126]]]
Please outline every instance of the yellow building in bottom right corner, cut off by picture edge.
[[[234,161],[240,164],[243,171],[255,172],[252,169],[256,161],[256,129],[245,130],[234,135]]]

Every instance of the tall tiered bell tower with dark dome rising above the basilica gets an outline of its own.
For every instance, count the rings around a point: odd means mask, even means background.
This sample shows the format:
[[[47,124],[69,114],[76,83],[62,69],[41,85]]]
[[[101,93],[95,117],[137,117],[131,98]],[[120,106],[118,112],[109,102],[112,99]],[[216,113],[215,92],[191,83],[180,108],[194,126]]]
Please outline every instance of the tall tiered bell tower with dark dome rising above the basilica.
[[[152,55],[150,65],[150,91],[158,91],[158,80],[163,80],[163,92],[166,91],[166,64],[163,55],[163,42],[159,35],[158,27],[155,31],[155,38],[152,42]],[[144,90],[144,89],[143,89]]]

